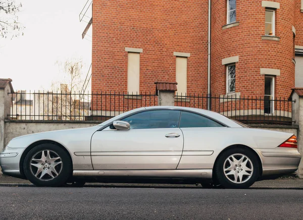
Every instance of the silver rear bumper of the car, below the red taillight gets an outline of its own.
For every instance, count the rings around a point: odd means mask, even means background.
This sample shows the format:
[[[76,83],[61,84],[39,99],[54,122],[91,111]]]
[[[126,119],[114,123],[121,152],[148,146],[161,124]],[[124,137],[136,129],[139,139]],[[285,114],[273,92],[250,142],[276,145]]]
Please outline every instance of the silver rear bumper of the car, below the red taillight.
[[[286,175],[298,169],[301,154],[296,148],[255,149],[262,161],[262,176]]]

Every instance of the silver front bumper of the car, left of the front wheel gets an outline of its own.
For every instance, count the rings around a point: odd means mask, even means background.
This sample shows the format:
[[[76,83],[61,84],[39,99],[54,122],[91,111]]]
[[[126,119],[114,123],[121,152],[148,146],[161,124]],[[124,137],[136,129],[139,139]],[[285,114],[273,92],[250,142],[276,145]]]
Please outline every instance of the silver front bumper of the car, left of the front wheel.
[[[20,158],[24,148],[6,147],[0,153],[0,166],[2,173],[12,177],[24,178],[20,172]]]

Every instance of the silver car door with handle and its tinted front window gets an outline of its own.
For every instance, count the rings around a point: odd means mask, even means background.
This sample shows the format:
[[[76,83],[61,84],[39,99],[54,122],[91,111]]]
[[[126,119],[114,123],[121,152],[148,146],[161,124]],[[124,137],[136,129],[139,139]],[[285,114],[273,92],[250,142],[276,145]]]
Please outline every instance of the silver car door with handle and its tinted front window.
[[[121,121],[129,130],[108,126],[91,138],[94,170],[170,170],[176,169],[183,148],[178,128],[180,111],[159,109],[142,111]]]

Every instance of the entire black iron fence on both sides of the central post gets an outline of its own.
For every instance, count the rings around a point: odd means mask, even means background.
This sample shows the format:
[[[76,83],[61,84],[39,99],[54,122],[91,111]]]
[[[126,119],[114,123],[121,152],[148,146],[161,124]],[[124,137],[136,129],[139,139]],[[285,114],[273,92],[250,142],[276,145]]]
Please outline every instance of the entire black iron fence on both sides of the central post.
[[[143,106],[158,105],[154,93],[16,92],[11,93],[12,120],[104,121]],[[245,124],[291,125],[292,100],[285,98],[176,94],[175,105],[208,109]]]

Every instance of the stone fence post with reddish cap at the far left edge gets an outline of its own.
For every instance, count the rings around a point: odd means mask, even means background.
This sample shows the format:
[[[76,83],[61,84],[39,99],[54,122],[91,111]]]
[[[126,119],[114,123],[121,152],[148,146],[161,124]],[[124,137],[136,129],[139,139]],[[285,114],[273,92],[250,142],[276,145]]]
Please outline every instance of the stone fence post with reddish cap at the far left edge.
[[[11,94],[14,93],[11,79],[0,79],[0,152],[4,149],[5,124],[11,112]]]

